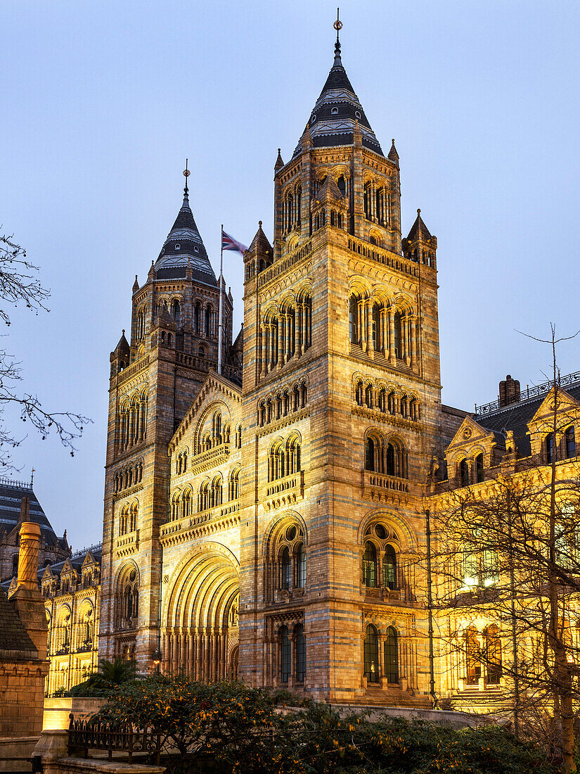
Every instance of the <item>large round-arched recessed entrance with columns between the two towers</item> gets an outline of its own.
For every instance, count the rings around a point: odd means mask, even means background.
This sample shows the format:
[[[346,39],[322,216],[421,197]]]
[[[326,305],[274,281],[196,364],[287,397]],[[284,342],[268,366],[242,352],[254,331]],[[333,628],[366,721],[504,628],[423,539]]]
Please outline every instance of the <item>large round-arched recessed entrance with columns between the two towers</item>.
[[[237,675],[239,563],[210,543],[189,553],[163,604],[162,668],[206,683]]]

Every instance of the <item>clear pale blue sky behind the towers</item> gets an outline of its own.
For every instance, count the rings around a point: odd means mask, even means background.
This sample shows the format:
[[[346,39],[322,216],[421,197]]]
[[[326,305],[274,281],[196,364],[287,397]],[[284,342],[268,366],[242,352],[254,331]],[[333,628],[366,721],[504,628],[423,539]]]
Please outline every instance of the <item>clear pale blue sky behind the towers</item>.
[[[5,2],[0,224],[52,289],[6,348],[49,409],[91,416],[71,458],[29,437],[16,461],[73,546],[101,538],[109,353],[190,200],[213,259],[220,223],[271,236],[276,149],[292,154],[333,62],[335,2]],[[343,63],[401,156],[403,228],[438,237],[443,400],[544,381],[515,332],[578,324],[578,2],[348,0]],[[233,257],[232,257],[233,256]],[[241,265],[227,257],[241,319]],[[578,342],[561,372],[580,369]],[[20,428],[17,428],[19,430]]]

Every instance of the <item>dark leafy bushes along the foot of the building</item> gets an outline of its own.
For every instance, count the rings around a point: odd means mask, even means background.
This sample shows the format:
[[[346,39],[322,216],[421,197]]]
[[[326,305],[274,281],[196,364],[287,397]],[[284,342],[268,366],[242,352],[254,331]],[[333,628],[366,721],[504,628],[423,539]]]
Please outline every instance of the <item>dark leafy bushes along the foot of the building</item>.
[[[293,706],[289,706],[292,702]],[[540,750],[493,725],[369,721],[242,683],[151,676],[121,683],[95,716],[159,733],[170,770],[231,774],[551,774]]]

